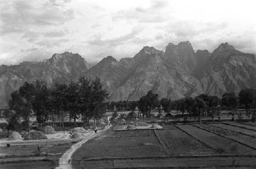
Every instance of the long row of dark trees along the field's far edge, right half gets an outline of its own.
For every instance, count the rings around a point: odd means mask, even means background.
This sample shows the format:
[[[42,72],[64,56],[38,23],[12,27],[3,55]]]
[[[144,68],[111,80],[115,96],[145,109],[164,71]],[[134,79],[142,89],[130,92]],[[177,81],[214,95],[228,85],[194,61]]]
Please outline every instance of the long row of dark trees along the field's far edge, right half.
[[[157,109],[164,110],[165,116],[172,116],[172,110],[178,110],[182,114],[176,116],[183,117],[184,121],[188,116],[193,116],[195,119],[198,117],[200,122],[202,116],[208,116],[212,120],[214,116],[220,117],[220,109],[225,108],[231,110],[231,115],[237,113],[238,108],[244,108],[246,115],[251,115],[251,119],[255,121],[256,109],[256,90],[255,89],[242,89],[238,96],[234,92],[226,92],[222,98],[211,96],[207,94],[200,94],[195,98],[186,97],[176,101],[163,98],[158,100],[158,94],[153,93],[152,90],[148,91],[146,95],[142,96],[138,101],[139,113],[142,116],[150,116],[151,110]]]

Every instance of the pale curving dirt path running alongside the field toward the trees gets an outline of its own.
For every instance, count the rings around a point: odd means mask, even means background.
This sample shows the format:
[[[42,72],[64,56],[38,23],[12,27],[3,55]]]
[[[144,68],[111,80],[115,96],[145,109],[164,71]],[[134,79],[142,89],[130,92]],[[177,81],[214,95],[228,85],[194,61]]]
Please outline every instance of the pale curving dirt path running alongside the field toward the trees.
[[[55,169],[70,169],[72,168],[72,164],[71,164],[71,156],[73,155],[73,153],[79,149],[83,143],[87,142],[88,140],[90,140],[91,138],[99,135],[100,133],[102,133],[105,130],[108,130],[111,127],[111,124],[106,126],[104,130],[100,130],[97,132],[97,134],[94,134],[94,132],[89,133],[89,135],[82,139],[81,141],[77,142],[76,144],[74,144],[68,151],[66,151],[61,158],[59,159],[59,166],[56,167]]]

